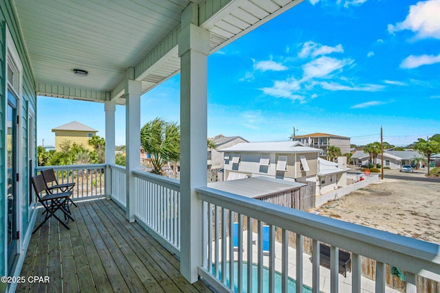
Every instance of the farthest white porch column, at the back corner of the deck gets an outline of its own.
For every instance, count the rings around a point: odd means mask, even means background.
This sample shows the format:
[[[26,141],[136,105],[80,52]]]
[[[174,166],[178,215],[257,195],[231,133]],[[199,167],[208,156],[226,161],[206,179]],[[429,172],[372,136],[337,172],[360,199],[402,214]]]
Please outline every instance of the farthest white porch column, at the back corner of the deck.
[[[115,102],[104,102],[105,110],[105,196],[111,196],[111,169],[109,164],[115,163]]]

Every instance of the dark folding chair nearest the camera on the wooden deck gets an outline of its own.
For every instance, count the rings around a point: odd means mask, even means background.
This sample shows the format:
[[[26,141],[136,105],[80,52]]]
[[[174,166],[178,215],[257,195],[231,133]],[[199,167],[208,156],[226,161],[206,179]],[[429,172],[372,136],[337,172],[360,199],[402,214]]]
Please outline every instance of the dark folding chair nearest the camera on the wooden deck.
[[[65,220],[72,220],[74,221],[74,218],[70,215],[69,211],[65,209],[65,205],[67,201],[69,200],[69,196],[72,195],[72,191],[62,192],[59,194],[50,194],[49,191],[47,191],[46,183],[44,181],[43,175],[37,175],[31,178],[32,186],[34,187],[36,197],[38,198],[39,202],[43,205],[45,211],[45,219],[41,224],[39,224],[38,227],[34,229],[32,234],[34,234],[43,224],[49,220],[52,215],[58,222],[63,224],[67,229],[69,229],[69,226],[65,224],[58,216],[55,214],[56,211],[60,210],[64,214]],[[45,195],[43,196],[43,191],[45,191]]]

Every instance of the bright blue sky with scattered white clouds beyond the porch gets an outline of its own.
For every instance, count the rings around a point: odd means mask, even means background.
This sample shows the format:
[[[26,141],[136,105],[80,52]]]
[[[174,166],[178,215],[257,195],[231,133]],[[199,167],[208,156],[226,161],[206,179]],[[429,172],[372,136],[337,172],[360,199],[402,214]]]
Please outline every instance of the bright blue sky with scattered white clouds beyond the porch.
[[[326,132],[406,145],[440,132],[440,0],[305,0],[208,57],[208,137],[285,141]],[[179,121],[179,78],[141,99],[141,124]],[[38,98],[38,143],[104,105]],[[124,106],[116,144],[125,143]],[[56,121],[56,122],[54,122]]]

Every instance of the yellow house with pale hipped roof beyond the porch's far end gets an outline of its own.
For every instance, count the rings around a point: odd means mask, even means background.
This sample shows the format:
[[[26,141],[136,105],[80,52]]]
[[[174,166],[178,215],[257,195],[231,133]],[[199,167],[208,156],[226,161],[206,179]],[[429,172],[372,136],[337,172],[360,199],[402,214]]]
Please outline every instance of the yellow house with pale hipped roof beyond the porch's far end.
[[[84,125],[78,121],[73,121],[56,128],[52,128],[52,132],[55,132],[55,150],[59,152],[61,150],[60,145],[64,141],[72,141],[83,145],[88,150],[93,150],[93,147],[89,145],[89,139],[96,135],[98,130]]]

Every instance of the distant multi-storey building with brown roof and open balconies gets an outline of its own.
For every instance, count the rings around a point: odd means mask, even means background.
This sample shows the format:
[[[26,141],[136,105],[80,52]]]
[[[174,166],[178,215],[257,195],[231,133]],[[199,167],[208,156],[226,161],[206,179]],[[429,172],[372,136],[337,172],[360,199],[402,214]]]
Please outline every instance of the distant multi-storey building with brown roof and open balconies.
[[[341,154],[350,152],[350,137],[341,137],[340,135],[316,132],[305,135],[296,135],[295,137],[292,137],[292,140],[300,141],[305,146],[322,150],[320,156],[326,156],[327,149],[330,145],[340,148]]]

